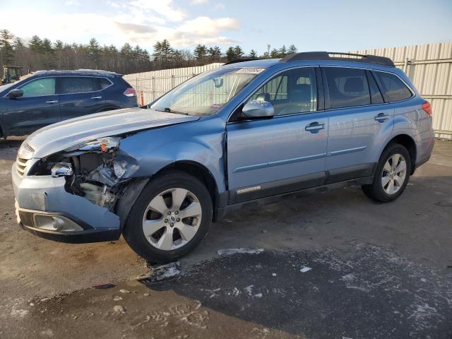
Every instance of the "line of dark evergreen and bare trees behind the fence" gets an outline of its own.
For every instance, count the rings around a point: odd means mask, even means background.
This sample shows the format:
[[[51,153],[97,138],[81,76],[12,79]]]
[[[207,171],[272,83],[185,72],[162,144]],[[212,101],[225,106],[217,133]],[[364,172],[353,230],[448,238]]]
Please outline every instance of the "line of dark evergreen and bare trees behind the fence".
[[[40,69],[103,69],[129,74],[237,59],[281,58],[297,52],[293,44],[271,50],[270,45],[267,47],[267,51],[261,55],[254,49],[246,54],[239,45],[222,52],[218,46],[198,44],[192,52],[189,49],[175,49],[168,40],[162,40],[153,45],[150,54],[138,44],[133,47],[125,43],[118,49],[113,44],[102,46],[95,38],[88,44],[68,44],[33,35],[25,44],[8,30],[0,30],[0,66],[22,66],[23,73]]]

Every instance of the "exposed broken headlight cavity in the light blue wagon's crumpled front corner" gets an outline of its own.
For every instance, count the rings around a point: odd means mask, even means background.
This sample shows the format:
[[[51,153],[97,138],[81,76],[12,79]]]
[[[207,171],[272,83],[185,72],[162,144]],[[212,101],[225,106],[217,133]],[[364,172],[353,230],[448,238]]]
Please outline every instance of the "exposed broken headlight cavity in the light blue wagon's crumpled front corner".
[[[135,162],[119,150],[120,140],[102,138],[45,157],[32,174],[65,177],[67,192],[112,210],[130,180],[124,178],[129,164]]]

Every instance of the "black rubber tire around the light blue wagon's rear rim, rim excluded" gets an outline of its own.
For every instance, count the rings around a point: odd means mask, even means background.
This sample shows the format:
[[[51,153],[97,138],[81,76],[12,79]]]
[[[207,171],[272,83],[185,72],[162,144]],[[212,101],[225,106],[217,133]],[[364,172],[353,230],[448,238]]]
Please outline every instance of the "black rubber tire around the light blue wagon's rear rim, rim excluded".
[[[381,179],[383,177],[383,168],[386,165],[386,162],[393,155],[396,154],[400,154],[405,158],[406,175],[403,184],[400,185],[400,189],[398,189],[398,191],[396,191],[396,193],[394,194],[388,194],[383,189],[383,185],[381,184]],[[389,201],[393,201],[396,198],[398,198],[401,194],[403,194],[403,191],[405,191],[405,187],[408,184],[408,179],[410,179],[410,172],[411,172],[410,153],[408,153],[408,150],[403,145],[400,145],[398,143],[392,143],[391,145],[388,145],[381,154],[379,165],[376,167],[376,171],[374,174],[374,182],[370,185],[362,185],[361,186],[362,191],[366,196],[368,196],[374,201],[378,201],[380,203],[388,203]]]

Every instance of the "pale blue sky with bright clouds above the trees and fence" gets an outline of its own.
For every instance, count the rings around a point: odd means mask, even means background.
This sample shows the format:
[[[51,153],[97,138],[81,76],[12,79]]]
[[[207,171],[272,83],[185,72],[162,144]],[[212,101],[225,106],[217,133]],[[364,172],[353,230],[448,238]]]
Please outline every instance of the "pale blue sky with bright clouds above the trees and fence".
[[[192,49],[267,44],[343,52],[452,41],[452,0],[0,0],[0,29],[29,39],[101,44],[157,40]]]

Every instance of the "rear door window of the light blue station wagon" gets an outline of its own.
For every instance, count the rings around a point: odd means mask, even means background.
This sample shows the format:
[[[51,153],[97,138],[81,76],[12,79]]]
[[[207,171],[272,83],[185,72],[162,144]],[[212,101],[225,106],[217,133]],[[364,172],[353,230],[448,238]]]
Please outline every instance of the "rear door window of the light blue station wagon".
[[[369,85],[363,69],[324,68],[330,108],[370,105]]]

